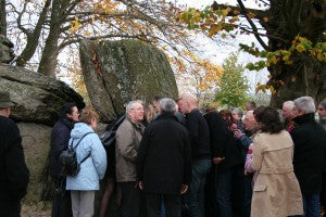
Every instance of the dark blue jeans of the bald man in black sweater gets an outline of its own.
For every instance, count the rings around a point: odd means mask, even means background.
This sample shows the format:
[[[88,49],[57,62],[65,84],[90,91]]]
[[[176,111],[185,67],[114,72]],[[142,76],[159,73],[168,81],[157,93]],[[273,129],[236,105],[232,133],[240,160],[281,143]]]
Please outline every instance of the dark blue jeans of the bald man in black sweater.
[[[211,168],[211,159],[192,162],[192,179],[185,202],[190,217],[204,217],[204,184]]]

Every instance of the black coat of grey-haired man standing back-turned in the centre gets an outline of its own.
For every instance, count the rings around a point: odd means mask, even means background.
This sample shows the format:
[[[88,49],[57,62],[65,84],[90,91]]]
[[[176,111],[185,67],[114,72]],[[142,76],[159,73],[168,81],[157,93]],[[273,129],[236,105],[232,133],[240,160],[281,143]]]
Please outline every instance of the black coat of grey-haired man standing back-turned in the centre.
[[[173,114],[162,114],[142,136],[137,158],[137,178],[145,191],[178,194],[191,178],[191,149],[187,129]]]

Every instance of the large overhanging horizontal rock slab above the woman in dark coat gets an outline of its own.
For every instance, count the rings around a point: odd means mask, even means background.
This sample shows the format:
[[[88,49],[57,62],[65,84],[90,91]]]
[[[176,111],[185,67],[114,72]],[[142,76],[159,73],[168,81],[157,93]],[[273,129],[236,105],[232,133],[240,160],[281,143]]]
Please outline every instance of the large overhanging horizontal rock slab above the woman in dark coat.
[[[76,102],[78,107],[85,106],[82,95],[65,82],[7,64],[0,64],[0,90],[10,92],[15,103],[11,117],[16,122],[52,126],[64,103]]]

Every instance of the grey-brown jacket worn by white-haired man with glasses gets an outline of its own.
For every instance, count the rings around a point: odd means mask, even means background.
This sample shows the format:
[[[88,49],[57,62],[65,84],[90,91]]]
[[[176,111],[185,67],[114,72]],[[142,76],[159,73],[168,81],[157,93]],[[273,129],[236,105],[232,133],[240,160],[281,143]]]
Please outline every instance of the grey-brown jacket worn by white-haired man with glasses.
[[[136,158],[145,127],[126,118],[115,135],[116,181],[136,181]]]

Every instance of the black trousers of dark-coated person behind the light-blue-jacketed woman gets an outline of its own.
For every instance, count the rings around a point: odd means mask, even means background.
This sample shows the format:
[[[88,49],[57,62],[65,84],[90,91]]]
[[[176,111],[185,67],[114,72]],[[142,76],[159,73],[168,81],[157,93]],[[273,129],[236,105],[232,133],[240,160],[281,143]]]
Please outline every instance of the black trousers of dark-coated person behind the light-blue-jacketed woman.
[[[72,217],[71,191],[65,190],[65,179],[58,180],[52,199],[51,217]]]

